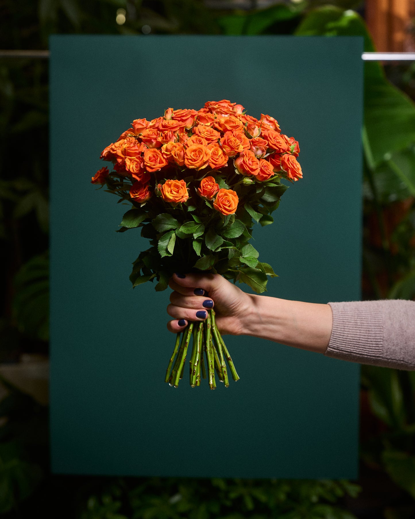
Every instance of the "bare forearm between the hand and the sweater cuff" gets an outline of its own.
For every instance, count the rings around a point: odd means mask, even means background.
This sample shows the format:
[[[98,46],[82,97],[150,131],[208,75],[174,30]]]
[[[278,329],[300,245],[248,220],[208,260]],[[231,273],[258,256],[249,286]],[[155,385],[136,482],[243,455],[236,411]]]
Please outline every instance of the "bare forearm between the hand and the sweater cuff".
[[[333,315],[329,305],[250,295],[251,315],[244,334],[324,353],[330,341]]]

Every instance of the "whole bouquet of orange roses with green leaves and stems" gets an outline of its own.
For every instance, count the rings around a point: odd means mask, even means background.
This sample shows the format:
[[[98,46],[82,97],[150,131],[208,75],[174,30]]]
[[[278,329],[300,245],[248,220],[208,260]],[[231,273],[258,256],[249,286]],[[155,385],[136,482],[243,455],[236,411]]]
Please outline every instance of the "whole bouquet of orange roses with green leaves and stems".
[[[92,177],[118,202],[132,204],[118,232],[141,228],[150,240],[133,263],[133,287],[157,280],[161,291],[174,272],[209,271],[264,292],[268,277],[276,275],[249,240],[254,222],[273,222],[271,213],[287,189],[281,179],[302,177],[299,151],[273,117],[256,119],[227,100],[135,119],[101,154],[112,171],[104,167]],[[211,309],[205,321],[189,322],[177,334],[166,382],[178,386],[190,339],[191,387],[207,377],[214,389],[215,372],[228,387],[228,367],[239,379]]]

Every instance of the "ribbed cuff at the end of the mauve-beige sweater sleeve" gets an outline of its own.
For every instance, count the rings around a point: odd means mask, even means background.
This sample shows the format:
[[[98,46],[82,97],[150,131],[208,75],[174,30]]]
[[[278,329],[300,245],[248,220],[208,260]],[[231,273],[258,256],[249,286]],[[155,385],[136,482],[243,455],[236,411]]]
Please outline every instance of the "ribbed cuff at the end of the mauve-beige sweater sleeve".
[[[383,319],[377,301],[328,303],[333,311],[333,330],[326,355],[368,363],[382,358]],[[372,363],[372,362],[369,362]]]

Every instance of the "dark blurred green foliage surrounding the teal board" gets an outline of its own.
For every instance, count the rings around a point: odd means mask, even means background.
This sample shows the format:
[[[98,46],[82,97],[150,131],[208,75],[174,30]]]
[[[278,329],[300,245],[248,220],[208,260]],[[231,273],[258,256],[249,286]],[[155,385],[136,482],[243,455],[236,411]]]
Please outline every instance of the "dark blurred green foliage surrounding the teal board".
[[[363,35],[364,2],[0,0],[0,49],[79,34]],[[287,57],[295,59],[295,57]],[[103,71],[108,74],[108,71]],[[415,298],[415,63],[365,64],[363,297]],[[65,125],[63,121],[62,136]],[[0,57],[0,363],[48,353],[48,62]],[[324,147],[323,147],[324,151]],[[415,376],[362,372],[356,484],[52,476],[47,407],[2,377],[0,515],[81,519],[415,517]]]

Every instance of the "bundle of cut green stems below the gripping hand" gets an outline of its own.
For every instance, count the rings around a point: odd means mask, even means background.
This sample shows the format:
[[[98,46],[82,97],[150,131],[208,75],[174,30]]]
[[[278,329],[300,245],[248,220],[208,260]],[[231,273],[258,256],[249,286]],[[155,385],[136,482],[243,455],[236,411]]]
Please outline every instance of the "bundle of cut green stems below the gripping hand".
[[[215,311],[211,309],[207,312],[206,321],[190,321],[183,332],[177,334],[176,344],[165,374],[165,382],[168,382],[170,386],[174,386],[175,388],[178,387],[179,380],[183,378],[191,338],[193,339],[193,343],[189,372],[190,386],[192,388],[200,386],[201,378],[207,378],[209,380],[209,387],[215,389],[215,371],[219,377],[219,381],[223,382],[225,387],[229,387],[228,370],[225,360],[228,363],[233,380],[239,380],[238,373],[235,370],[229,351],[225,346],[224,339],[216,327]]]

